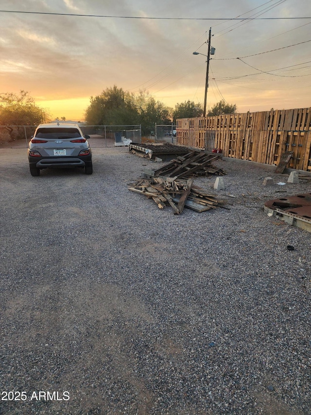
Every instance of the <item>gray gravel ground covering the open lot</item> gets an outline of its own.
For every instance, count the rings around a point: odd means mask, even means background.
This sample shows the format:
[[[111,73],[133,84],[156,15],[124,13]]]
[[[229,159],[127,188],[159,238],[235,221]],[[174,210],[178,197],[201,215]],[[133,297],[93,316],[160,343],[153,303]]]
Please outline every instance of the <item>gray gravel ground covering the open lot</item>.
[[[1,149],[0,414],[310,415],[311,234],[263,213],[310,182],[219,161],[229,210],[175,216],[90,142],[92,176]]]

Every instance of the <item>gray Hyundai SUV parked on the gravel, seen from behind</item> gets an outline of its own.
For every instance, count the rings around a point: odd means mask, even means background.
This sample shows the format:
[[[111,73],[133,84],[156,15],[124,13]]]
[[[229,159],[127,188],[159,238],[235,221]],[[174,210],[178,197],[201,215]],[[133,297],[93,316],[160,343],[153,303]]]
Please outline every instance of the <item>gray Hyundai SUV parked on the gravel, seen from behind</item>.
[[[28,160],[32,176],[47,167],[82,167],[93,173],[88,135],[77,124],[40,124],[29,142]]]

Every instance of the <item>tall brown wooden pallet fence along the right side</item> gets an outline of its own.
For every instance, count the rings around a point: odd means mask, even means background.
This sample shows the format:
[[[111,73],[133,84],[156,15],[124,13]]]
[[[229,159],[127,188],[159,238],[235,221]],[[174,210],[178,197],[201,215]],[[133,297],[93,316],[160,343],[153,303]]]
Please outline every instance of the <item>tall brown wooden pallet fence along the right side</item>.
[[[293,151],[288,167],[311,171],[311,108],[183,118],[176,130],[177,144],[235,159],[278,164]]]

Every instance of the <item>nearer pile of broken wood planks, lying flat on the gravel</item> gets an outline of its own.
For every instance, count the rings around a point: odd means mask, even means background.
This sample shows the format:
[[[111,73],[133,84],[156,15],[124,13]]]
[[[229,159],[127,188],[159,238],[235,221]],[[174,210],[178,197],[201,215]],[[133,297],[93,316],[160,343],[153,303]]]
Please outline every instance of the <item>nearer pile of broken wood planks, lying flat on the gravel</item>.
[[[175,215],[182,213],[184,207],[204,212],[225,203],[217,195],[194,185],[193,178],[181,180],[176,177],[154,177],[148,180],[139,179],[128,186],[129,190],[152,198],[160,209],[170,205]]]

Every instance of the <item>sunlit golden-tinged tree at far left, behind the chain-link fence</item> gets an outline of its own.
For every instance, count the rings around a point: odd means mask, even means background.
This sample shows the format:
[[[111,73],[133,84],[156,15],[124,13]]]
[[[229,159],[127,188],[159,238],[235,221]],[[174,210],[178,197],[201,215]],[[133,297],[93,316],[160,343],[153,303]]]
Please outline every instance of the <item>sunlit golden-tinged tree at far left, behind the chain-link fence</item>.
[[[15,93],[0,93],[0,125],[2,126],[36,126],[49,116],[35,105],[29,92],[21,90]]]

